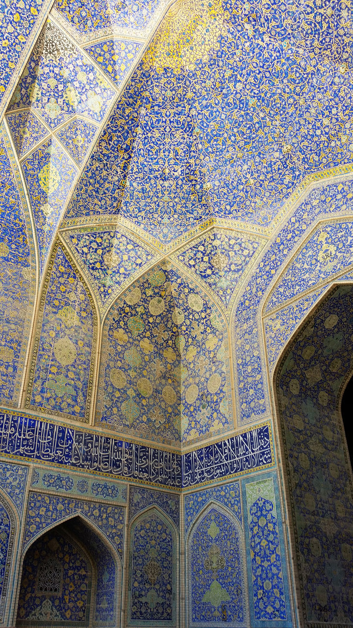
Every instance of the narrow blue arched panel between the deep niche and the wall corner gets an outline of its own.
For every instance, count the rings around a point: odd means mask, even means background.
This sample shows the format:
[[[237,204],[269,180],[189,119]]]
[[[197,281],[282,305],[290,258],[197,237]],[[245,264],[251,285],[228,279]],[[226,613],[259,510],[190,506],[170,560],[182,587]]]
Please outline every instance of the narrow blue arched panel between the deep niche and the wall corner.
[[[129,525],[127,625],[178,625],[179,538],[158,507],[145,509]]]

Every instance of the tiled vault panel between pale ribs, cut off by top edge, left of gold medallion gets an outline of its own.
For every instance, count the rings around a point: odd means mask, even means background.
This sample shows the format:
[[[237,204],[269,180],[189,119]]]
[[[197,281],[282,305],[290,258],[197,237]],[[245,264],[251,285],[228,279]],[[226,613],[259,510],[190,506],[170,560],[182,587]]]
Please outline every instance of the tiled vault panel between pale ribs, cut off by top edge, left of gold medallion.
[[[160,0],[57,0],[59,13],[79,33],[92,33],[107,26],[146,28]]]

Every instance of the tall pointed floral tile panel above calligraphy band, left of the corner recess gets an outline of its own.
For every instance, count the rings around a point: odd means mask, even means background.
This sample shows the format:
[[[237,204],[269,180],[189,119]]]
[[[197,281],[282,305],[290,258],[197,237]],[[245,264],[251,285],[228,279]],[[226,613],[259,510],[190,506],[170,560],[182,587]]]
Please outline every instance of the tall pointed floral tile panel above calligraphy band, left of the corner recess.
[[[28,408],[87,421],[97,323],[92,298],[60,247],[40,305]]]

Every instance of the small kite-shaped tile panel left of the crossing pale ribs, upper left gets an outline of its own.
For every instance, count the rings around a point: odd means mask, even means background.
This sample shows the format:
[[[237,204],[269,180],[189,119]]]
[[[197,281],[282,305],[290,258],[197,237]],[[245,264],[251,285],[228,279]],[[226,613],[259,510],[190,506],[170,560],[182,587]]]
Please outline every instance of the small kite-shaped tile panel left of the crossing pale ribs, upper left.
[[[28,153],[35,144],[48,135],[45,126],[31,111],[9,114],[6,120],[19,157]]]

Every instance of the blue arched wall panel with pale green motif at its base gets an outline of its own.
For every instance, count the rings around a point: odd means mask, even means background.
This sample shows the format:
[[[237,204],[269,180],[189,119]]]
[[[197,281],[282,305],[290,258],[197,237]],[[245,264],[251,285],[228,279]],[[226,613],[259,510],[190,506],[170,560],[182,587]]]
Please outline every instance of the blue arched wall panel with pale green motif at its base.
[[[244,534],[238,519],[210,501],[187,536],[188,625],[247,625]]]

